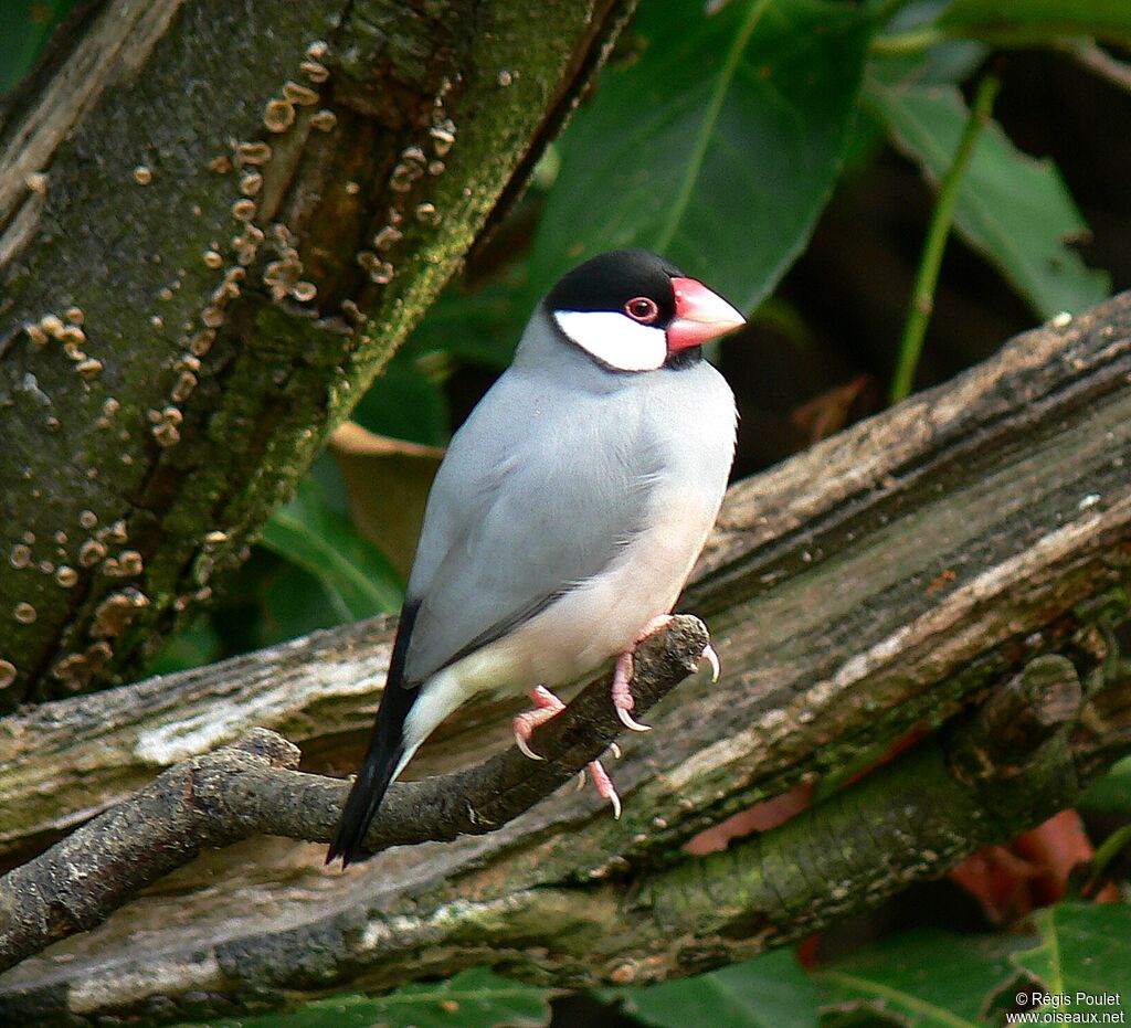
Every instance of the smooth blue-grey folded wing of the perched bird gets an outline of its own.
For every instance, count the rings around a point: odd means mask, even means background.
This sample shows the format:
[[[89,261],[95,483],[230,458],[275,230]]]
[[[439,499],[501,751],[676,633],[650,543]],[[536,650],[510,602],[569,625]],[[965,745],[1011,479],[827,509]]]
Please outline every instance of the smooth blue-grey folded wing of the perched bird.
[[[567,395],[511,369],[476,407],[429,498],[406,684],[534,616],[640,530],[655,455],[625,399]]]

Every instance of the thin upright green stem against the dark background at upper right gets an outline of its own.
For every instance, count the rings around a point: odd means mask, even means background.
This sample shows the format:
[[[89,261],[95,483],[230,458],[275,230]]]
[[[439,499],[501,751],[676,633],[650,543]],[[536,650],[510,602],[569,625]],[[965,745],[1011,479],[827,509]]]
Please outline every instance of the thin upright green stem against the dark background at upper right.
[[[912,302],[907,311],[907,321],[904,325],[904,336],[899,342],[899,358],[895,377],[891,380],[890,399],[892,404],[898,404],[912,391],[915,370],[918,368],[920,355],[923,352],[923,338],[926,336],[926,326],[934,305],[934,288],[939,282],[942,254],[947,249],[947,236],[950,234],[950,225],[955,219],[955,204],[958,200],[962,176],[970,163],[970,157],[974,155],[978,136],[990,120],[990,112],[993,110],[994,97],[998,95],[1000,86],[1001,81],[994,75],[987,75],[978,84],[970,115],[962,129],[958,149],[955,150],[955,158],[942,180],[939,200],[935,204],[934,214],[931,216],[926,241],[923,244],[923,257],[920,259],[918,271],[915,275]]]

